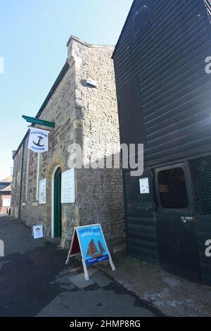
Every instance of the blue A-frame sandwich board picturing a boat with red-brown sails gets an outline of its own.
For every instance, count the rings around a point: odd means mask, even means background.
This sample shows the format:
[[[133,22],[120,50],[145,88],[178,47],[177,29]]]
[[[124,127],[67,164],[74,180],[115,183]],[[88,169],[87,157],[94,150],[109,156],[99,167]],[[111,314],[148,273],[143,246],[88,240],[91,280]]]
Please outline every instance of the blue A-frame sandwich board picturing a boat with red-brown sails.
[[[82,254],[85,280],[89,280],[87,266],[109,260],[112,270],[115,270],[100,224],[74,228],[70,251],[65,264],[69,263],[71,257],[79,254]]]

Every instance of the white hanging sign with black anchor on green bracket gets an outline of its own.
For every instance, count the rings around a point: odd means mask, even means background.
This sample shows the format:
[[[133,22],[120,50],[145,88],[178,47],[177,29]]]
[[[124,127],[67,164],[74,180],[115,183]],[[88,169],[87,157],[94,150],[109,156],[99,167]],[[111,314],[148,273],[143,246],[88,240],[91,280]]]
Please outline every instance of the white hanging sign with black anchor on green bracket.
[[[49,151],[49,131],[30,127],[30,137],[28,149],[35,153],[44,153]]]

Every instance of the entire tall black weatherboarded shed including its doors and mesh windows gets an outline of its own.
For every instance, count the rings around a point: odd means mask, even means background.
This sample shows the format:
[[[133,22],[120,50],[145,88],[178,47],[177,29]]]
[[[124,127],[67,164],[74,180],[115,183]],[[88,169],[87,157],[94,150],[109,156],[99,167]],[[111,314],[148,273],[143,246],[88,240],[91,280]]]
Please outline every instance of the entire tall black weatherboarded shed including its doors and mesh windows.
[[[121,142],[143,143],[149,194],[124,170],[127,248],[211,285],[210,1],[134,0],[113,59]]]

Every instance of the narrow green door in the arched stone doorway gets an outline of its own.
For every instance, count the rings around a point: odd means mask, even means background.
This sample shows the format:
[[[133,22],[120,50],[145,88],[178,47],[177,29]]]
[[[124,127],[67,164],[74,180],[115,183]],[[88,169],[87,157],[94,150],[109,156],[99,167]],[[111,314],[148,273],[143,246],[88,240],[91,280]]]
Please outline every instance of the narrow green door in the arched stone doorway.
[[[54,237],[61,237],[61,170],[58,168],[54,177]]]

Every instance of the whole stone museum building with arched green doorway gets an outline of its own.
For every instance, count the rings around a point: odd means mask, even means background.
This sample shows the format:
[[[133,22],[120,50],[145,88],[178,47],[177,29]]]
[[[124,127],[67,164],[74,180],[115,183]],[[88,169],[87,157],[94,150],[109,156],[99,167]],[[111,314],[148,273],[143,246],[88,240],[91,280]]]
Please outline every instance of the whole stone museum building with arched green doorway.
[[[30,227],[44,225],[45,236],[61,237],[63,246],[70,245],[75,226],[91,223],[101,223],[119,244],[124,241],[122,172],[87,167],[99,152],[120,152],[113,46],[91,45],[73,36],[67,46],[68,60],[36,116],[56,123],[49,133],[49,151],[27,149],[29,132],[13,151],[11,214]],[[75,203],[60,204],[60,174],[69,170],[71,144],[82,146],[84,166],[75,168]],[[42,180],[45,204],[39,204]]]

